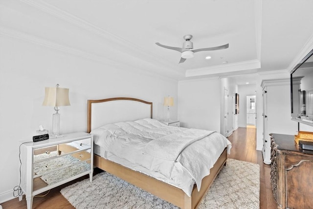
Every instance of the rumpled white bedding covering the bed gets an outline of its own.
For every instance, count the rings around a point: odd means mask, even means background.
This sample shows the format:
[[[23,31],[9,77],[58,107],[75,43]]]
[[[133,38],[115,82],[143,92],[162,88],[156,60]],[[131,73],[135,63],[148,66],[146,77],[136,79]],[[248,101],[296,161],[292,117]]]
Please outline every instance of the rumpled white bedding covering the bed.
[[[200,190],[224,148],[228,153],[231,148],[219,133],[167,126],[151,118],[107,124],[91,134],[101,157],[177,186],[188,196],[194,183]]]

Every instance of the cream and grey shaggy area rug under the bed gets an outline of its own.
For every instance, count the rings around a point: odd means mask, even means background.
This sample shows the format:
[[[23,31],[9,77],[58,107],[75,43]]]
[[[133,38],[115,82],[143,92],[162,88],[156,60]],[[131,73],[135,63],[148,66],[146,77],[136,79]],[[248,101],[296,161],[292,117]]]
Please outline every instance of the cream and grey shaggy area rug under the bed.
[[[61,190],[76,209],[178,209],[107,172]],[[228,159],[199,209],[259,209],[260,166]]]

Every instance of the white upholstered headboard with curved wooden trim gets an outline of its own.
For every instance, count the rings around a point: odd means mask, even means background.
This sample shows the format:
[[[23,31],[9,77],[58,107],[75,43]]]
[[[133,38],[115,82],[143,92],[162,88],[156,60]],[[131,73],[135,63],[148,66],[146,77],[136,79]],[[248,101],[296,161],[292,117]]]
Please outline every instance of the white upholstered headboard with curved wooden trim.
[[[87,132],[109,123],[152,118],[152,102],[129,97],[88,100]]]

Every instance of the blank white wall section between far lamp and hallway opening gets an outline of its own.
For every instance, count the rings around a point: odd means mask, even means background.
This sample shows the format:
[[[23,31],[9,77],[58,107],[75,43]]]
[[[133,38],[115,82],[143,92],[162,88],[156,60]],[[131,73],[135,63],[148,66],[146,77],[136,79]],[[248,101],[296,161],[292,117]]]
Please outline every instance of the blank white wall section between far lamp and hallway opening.
[[[182,127],[220,132],[220,79],[194,79],[178,83],[178,116]]]

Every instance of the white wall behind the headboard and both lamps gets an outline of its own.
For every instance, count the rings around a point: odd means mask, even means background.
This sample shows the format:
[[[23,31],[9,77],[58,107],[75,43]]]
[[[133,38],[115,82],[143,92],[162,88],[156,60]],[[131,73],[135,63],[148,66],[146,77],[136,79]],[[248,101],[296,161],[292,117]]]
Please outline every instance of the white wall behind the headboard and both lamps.
[[[13,187],[19,185],[19,141],[31,141],[39,125],[51,132],[54,111],[42,106],[45,87],[59,83],[69,88],[71,106],[60,110],[62,133],[87,130],[88,99],[125,96],[151,101],[156,119],[167,116],[164,96],[173,96],[177,104],[175,80],[6,36],[0,37],[0,46],[0,203],[13,198]],[[177,118],[177,105],[171,117]]]

